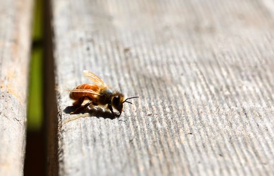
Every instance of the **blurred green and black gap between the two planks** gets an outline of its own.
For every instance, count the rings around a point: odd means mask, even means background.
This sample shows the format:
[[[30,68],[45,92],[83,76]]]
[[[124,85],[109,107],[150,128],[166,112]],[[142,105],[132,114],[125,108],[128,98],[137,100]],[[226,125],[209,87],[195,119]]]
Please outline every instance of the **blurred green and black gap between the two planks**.
[[[43,139],[43,6],[35,0],[33,9],[32,50],[27,111],[27,142],[24,175],[44,175],[45,142]]]

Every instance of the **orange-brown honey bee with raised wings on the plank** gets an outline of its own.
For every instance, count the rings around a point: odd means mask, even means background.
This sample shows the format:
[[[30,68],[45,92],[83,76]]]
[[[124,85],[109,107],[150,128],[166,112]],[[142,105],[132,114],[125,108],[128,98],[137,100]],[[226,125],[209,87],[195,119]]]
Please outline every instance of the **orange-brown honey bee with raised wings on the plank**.
[[[116,109],[120,114],[123,111],[123,103],[129,103],[127,100],[139,98],[139,97],[130,97],[124,100],[124,95],[120,92],[111,89],[111,87],[107,86],[102,79],[96,76],[94,73],[84,70],[84,76],[91,79],[93,83],[85,83],[78,85],[73,90],[67,90],[70,92],[70,98],[75,100],[73,103],[73,108],[77,108],[71,114],[76,114],[90,105],[98,106],[98,107],[105,107],[106,109],[110,110],[113,118],[115,118],[115,113],[113,112],[113,108]],[[88,99],[89,102],[82,106],[83,102]]]

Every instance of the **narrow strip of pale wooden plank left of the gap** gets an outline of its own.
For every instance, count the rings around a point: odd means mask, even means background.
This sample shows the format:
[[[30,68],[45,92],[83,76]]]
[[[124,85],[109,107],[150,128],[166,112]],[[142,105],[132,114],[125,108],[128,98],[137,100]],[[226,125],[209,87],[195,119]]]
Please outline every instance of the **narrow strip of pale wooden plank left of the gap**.
[[[33,1],[0,1],[0,175],[23,175]]]

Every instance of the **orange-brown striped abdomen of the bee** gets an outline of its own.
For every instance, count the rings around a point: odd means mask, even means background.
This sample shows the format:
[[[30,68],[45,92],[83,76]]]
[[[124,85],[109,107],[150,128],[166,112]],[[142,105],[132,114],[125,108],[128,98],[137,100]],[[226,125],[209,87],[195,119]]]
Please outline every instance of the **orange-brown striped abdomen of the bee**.
[[[99,91],[100,91],[99,86],[96,85],[96,84],[81,84],[81,85],[78,85],[77,87],[75,87],[75,89],[89,89],[89,90],[98,92],[98,94],[99,94]],[[71,92],[70,93],[70,98],[73,99],[73,100],[79,100],[82,97],[93,98],[94,94],[81,93],[81,92],[79,92],[79,93],[78,92]]]

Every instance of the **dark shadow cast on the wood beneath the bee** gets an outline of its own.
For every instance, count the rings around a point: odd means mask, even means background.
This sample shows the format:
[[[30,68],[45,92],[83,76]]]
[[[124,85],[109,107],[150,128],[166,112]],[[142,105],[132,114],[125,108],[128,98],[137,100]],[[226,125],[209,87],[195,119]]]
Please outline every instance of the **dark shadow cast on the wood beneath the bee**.
[[[66,114],[70,114],[71,112],[74,112],[75,110],[76,110],[76,108],[68,106],[63,110],[63,112]],[[76,114],[85,114],[85,113],[89,113],[89,115],[91,117],[97,117],[97,118],[102,117],[104,119],[115,119],[111,112],[104,111],[102,108],[86,108],[85,110],[81,111],[80,113],[76,113]],[[119,117],[119,116],[117,116],[117,114],[116,114],[116,117]]]

